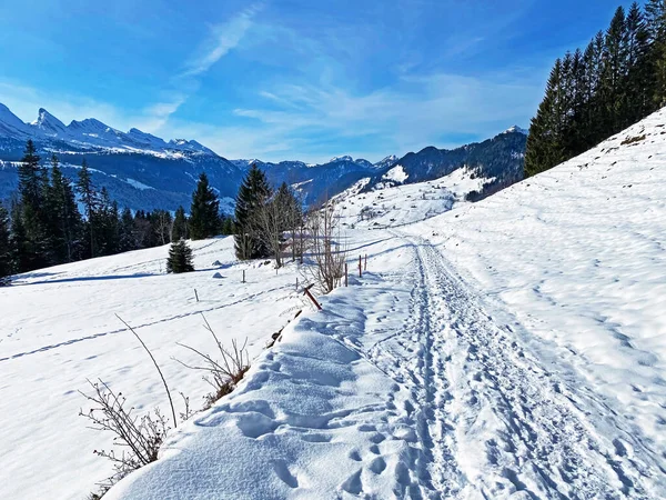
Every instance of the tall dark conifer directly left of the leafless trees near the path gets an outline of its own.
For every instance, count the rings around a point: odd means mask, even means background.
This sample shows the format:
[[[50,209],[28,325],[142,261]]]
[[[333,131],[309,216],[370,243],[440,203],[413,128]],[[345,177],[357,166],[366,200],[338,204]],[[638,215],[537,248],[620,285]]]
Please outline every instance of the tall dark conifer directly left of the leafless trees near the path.
[[[258,223],[260,210],[271,199],[271,187],[264,172],[252,163],[243,179],[235,206],[234,243],[236,257],[241,260],[256,259],[270,254],[265,239]]]

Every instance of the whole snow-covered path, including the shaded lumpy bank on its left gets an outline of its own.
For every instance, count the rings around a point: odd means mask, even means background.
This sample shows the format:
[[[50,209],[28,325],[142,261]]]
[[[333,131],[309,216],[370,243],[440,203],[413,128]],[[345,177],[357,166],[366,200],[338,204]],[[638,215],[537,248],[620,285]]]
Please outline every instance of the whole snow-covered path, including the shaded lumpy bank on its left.
[[[372,237],[373,272],[112,499],[662,497],[660,458],[569,367],[427,240]]]

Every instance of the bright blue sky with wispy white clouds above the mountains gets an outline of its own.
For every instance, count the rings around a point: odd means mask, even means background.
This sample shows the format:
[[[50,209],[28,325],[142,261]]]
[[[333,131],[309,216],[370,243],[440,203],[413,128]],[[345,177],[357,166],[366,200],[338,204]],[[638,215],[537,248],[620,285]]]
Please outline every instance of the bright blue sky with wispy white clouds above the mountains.
[[[231,159],[379,161],[527,127],[554,59],[618,4],[2,0],[0,102]]]

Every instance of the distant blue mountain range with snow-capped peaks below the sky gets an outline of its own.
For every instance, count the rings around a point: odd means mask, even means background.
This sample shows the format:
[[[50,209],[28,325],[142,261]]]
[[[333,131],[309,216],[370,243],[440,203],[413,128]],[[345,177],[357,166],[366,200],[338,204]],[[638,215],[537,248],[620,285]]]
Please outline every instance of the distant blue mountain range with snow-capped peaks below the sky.
[[[508,178],[513,182],[522,178],[524,152],[524,134],[513,127],[490,143],[470,144],[453,151],[431,147],[400,160],[389,156],[374,164],[349,154],[334,157],[323,164],[297,160],[279,163],[258,159],[230,161],[194,140],[165,141],[137,128],[123,132],[94,118],[73,120],[65,126],[43,108],[34,121],[24,123],[0,104],[0,200],[9,198],[17,188],[14,167],[28,139],[36,142],[44,161],[51,153],[57,153],[70,178],[75,177],[85,158],[94,181],[105,187],[121,207],[137,210],[188,207],[201,172],[206,172],[221,198],[231,201],[252,163],[266,172],[271,183],[286,182],[299,191],[304,203],[316,204],[361,179],[372,179],[369,189],[387,182],[391,186],[418,182],[451,173],[465,162],[485,169],[482,177]],[[504,143],[515,147],[505,148]],[[402,168],[396,169],[396,163]]]

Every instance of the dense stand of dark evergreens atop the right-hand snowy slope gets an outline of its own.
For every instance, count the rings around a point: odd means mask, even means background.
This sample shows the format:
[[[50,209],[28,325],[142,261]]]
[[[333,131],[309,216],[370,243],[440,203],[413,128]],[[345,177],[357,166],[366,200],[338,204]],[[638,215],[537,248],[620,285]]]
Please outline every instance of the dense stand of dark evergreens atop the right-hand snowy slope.
[[[525,176],[573,158],[666,104],[666,0],[619,7],[585,52],[558,59],[532,120]]]

